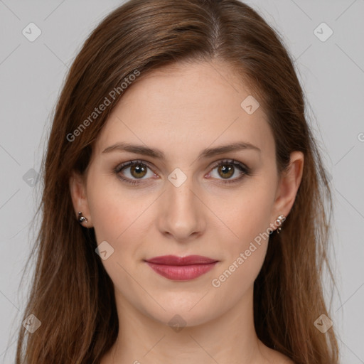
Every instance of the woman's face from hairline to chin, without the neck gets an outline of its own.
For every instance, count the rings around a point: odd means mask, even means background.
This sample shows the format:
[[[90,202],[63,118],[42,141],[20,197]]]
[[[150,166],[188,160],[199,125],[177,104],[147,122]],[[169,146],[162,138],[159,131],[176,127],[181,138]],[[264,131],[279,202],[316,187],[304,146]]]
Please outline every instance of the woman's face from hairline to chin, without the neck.
[[[251,294],[262,234],[289,213],[299,183],[280,184],[267,117],[242,108],[250,90],[232,75],[221,63],[180,64],[135,82],[97,139],[85,185],[72,184],[124,309],[163,323],[179,314],[187,326],[218,318]],[[146,262],[164,255],[215,263]]]

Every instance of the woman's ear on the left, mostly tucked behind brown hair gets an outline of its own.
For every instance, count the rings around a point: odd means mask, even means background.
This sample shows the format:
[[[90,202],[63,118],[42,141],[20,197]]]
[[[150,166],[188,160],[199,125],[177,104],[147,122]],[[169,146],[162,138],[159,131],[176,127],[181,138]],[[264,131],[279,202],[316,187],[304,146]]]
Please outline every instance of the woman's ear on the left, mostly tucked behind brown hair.
[[[86,182],[84,176],[75,171],[70,176],[70,194],[72,198],[73,208],[75,209],[76,219],[78,220],[78,212],[81,211],[82,215],[87,218],[87,222],[82,223],[85,228],[92,228],[92,220],[90,215],[90,208],[87,200]]]

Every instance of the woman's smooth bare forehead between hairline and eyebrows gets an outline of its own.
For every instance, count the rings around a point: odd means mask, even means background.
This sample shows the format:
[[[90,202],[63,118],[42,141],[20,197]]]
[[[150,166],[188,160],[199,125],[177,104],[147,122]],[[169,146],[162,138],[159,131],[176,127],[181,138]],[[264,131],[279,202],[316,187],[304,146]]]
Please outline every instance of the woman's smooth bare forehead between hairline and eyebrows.
[[[119,141],[163,149],[171,158],[207,146],[246,141],[272,153],[274,140],[262,107],[248,114],[250,96],[228,65],[184,63],[139,76],[112,110],[97,153]]]

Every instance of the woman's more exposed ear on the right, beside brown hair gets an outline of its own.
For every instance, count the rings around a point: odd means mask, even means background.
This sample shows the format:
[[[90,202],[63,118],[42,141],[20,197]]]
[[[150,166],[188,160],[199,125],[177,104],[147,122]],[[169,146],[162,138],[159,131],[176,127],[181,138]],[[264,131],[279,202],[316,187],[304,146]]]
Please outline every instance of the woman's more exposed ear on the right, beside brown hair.
[[[279,180],[272,210],[272,221],[275,221],[279,215],[284,215],[286,218],[289,215],[301,184],[303,171],[304,154],[301,151],[293,151],[287,171],[284,171]]]

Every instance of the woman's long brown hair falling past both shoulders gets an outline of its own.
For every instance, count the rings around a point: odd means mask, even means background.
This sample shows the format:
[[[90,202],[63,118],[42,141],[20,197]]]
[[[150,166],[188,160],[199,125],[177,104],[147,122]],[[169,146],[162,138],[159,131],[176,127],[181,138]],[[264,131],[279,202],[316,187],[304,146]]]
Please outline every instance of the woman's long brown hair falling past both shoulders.
[[[211,59],[232,65],[267,113],[279,173],[292,151],[304,153],[296,200],[282,232],[271,235],[255,281],[257,336],[297,364],[338,363],[333,327],[321,333],[314,326],[321,314],[330,316],[321,275],[328,267],[333,282],[328,261],[331,187],[284,42],[237,0],[128,1],[85,41],[55,108],[42,164],[41,228],[32,252],[36,269],[23,314],[23,319],[34,314],[41,327],[28,333],[21,326],[16,363],[99,363],[111,348],[119,328],[114,287],[95,254],[94,230],[75,218],[70,173],[87,168],[100,130],[127,92],[122,83],[129,86],[136,78],[131,75]],[[111,105],[92,114],[105,97]]]

